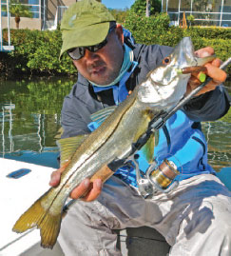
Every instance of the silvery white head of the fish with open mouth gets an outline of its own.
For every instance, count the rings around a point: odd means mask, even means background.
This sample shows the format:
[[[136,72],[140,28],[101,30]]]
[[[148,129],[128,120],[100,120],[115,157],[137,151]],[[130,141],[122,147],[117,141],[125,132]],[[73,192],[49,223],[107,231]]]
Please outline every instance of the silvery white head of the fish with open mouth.
[[[183,73],[183,69],[202,66],[214,58],[197,57],[190,37],[184,37],[163,63],[148,73],[138,91],[139,100],[150,107],[174,107],[183,98],[191,76]]]

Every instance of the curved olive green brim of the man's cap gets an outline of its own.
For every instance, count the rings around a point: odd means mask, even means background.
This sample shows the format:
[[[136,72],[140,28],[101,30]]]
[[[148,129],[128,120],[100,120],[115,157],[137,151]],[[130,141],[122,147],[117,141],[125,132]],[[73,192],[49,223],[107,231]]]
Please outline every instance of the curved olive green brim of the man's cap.
[[[109,30],[109,22],[87,26],[81,30],[63,31],[63,46],[60,58],[65,51],[77,47],[94,46],[105,40]]]

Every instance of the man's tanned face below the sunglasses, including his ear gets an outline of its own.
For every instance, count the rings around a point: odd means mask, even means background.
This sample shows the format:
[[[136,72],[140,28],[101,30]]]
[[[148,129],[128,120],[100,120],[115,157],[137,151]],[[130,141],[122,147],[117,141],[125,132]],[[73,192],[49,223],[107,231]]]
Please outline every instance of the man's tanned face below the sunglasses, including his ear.
[[[106,86],[118,76],[124,60],[124,35],[121,26],[110,32],[107,44],[102,49],[91,52],[86,49],[85,56],[73,60],[78,71],[89,81]]]

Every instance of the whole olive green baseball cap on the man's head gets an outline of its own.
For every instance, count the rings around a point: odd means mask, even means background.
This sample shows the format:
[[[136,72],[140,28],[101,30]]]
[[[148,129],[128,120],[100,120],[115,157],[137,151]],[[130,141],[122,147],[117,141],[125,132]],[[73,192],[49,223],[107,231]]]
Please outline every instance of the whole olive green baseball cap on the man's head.
[[[95,0],[82,0],[71,5],[61,22],[63,45],[60,57],[68,49],[93,46],[105,40],[110,21],[115,18]]]

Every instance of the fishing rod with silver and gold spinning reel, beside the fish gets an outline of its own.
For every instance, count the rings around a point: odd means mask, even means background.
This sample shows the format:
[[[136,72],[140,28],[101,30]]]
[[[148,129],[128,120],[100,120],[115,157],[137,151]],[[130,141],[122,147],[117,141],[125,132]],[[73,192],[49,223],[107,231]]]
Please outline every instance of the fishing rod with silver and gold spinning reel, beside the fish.
[[[226,69],[230,63],[231,58],[228,58],[224,63],[221,64],[220,69]],[[129,160],[132,161],[136,169],[138,189],[144,198],[155,194],[157,191],[167,193],[174,187],[177,187],[178,182],[174,181],[174,179],[178,174],[180,174],[180,172],[173,162],[165,159],[160,167],[157,167],[157,163],[154,159],[153,163],[148,167],[146,173],[144,174],[140,170],[137,162],[137,159],[139,158],[139,154],[137,152],[144,147],[150,136],[155,131],[158,131],[160,128],[164,127],[164,124],[168,118],[175,114],[180,108],[183,108],[183,106],[187,104],[192,97],[203,89],[210,81],[212,81],[212,78],[207,77],[199,87],[193,89],[174,108],[171,108],[168,111],[161,111],[150,121],[144,134],[137,140],[136,143],[132,145],[129,155],[124,159],[115,159],[107,166],[112,171],[116,171],[119,167],[127,164]]]

